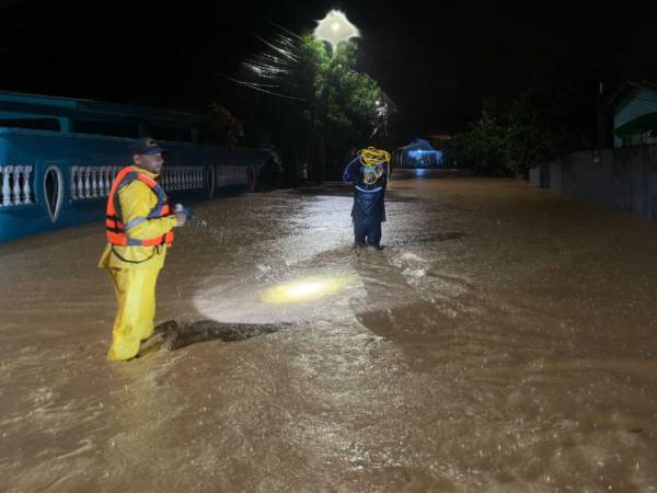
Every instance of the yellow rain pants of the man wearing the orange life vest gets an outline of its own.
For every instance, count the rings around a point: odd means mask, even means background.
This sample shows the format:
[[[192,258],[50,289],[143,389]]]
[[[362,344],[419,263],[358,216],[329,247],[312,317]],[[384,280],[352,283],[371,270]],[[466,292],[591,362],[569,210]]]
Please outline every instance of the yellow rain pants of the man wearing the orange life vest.
[[[108,268],[114,284],[118,311],[112,330],[107,359],[130,359],[139,353],[139,344],[153,333],[155,283],[160,270]]]

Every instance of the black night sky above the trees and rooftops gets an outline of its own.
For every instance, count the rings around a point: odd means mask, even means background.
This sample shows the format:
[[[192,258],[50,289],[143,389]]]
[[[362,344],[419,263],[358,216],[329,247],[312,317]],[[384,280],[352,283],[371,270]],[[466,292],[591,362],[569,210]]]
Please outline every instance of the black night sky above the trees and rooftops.
[[[415,133],[463,129],[482,100],[546,77],[595,101],[597,80],[657,73],[657,9],[630,2],[0,0],[0,89],[195,112],[217,101],[246,117],[254,100],[220,74],[238,73],[273,23],[300,33],[332,8],[360,27],[359,68]]]

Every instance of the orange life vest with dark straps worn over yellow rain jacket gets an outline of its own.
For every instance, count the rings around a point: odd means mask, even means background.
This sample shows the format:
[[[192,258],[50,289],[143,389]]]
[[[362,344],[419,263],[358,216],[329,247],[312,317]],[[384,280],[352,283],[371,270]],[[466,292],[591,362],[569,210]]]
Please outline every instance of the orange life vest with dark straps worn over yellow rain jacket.
[[[158,204],[142,220],[164,217],[171,214],[166,194],[160,184],[147,174],[140,173],[134,167],[126,167],[120,170],[114,179],[112,190],[110,191],[110,197],[107,198],[107,215],[105,218],[107,241],[112,244],[123,246],[155,246],[159,244],[171,244],[173,242],[173,231],[147,240],[136,240],[127,236],[126,225],[123,222],[120,203],[118,200],[118,191],[135,180],[145,183],[158,197]]]

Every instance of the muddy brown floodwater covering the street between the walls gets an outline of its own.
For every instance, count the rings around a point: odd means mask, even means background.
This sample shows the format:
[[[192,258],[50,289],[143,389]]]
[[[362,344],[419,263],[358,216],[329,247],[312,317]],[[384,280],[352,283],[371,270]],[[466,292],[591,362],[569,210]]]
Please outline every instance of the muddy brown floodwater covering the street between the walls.
[[[350,205],[196,205],[128,363],[102,223],[0,245],[0,490],[657,491],[655,225],[396,180],[354,251]]]

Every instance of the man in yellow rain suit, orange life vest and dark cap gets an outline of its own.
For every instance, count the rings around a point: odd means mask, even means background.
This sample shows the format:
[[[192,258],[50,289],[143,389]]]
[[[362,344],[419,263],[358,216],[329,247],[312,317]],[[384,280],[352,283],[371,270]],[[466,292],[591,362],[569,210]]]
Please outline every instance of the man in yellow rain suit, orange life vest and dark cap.
[[[141,341],[154,330],[155,283],[164,265],[173,228],[184,226],[187,214],[172,214],[166,195],[154,180],[164,160],[152,139],[132,147],[134,164],[115,177],[107,199],[107,245],[99,267],[107,268],[118,311],[107,359],[130,359]]]

